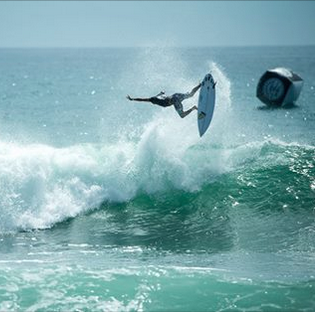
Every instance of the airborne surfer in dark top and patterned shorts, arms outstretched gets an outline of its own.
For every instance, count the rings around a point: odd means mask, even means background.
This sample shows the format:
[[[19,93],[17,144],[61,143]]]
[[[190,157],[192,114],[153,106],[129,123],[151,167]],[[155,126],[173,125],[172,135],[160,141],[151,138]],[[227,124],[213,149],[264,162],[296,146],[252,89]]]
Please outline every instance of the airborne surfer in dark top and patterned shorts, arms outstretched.
[[[150,102],[152,104],[159,105],[162,107],[174,105],[174,108],[176,109],[178,115],[181,118],[184,118],[187,115],[189,115],[193,110],[198,110],[198,108],[196,105],[194,105],[190,109],[184,111],[182,101],[193,97],[195,93],[199,90],[200,86],[201,83],[199,83],[198,86],[194,87],[188,93],[175,93],[173,95],[166,96],[165,93],[161,91],[159,94],[150,98],[132,98],[130,95],[127,95],[127,99],[130,101]]]

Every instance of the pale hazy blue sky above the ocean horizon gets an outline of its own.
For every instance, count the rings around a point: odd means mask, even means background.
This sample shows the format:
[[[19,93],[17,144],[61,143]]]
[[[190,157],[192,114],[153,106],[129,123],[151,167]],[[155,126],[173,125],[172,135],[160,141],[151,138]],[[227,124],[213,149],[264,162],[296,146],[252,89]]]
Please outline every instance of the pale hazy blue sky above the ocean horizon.
[[[314,1],[0,1],[0,47],[314,45]]]

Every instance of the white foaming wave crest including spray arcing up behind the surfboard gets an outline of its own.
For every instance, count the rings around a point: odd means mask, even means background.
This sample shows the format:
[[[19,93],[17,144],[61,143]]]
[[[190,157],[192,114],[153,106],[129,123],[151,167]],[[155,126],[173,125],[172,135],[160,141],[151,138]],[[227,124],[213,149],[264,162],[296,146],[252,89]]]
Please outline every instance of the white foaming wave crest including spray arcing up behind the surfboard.
[[[0,232],[50,228],[104,202],[170,190],[193,193],[248,164],[288,162],[283,142],[236,143],[227,135],[231,83],[216,63],[209,63],[209,70],[218,96],[215,118],[202,139],[195,118],[180,119],[161,109],[149,122],[134,124],[136,134],[120,124],[114,143],[55,148],[0,142]]]

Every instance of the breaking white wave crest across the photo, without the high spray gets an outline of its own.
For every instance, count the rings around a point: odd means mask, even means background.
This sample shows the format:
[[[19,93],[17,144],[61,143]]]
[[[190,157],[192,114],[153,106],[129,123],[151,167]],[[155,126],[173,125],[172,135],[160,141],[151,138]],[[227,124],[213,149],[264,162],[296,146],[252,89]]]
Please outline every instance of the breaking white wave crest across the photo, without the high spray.
[[[49,228],[104,202],[128,202],[139,194],[193,193],[224,174],[268,166],[267,176],[282,165],[304,175],[315,189],[313,147],[265,141],[226,148],[184,141],[187,146],[172,148],[164,130],[150,125],[139,142],[107,146],[0,143],[1,231]],[[241,176],[255,184],[253,176]]]

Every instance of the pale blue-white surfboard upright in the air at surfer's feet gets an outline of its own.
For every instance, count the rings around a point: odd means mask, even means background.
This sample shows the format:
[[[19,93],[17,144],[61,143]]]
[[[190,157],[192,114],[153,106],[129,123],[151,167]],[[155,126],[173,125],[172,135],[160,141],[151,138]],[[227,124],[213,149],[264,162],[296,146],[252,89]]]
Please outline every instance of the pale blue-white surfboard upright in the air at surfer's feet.
[[[207,74],[201,83],[198,99],[198,128],[200,137],[210,126],[215,104],[215,82],[211,74]]]

